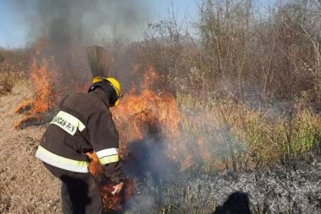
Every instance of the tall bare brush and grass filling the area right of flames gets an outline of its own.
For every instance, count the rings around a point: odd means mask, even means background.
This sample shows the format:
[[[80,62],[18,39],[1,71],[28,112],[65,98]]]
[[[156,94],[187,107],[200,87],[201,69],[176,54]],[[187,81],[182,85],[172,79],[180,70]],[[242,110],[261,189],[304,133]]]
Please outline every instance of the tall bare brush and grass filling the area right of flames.
[[[138,61],[162,75],[184,114],[183,133],[203,141],[206,171],[295,165],[320,153],[320,1],[205,0],[195,26],[153,23]],[[194,149],[194,150],[193,150]],[[218,161],[220,160],[220,161]]]

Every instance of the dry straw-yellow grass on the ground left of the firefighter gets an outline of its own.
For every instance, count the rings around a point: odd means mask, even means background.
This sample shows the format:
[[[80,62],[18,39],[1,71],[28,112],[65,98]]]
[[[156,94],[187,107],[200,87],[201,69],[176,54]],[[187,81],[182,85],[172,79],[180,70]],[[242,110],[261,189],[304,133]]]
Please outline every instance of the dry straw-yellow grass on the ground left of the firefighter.
[[[13,128],[23,117],[14,108],[31,95],[19,82],[0,97],[0,213],[61,213],[60,182],[34,156],[45,128]]]

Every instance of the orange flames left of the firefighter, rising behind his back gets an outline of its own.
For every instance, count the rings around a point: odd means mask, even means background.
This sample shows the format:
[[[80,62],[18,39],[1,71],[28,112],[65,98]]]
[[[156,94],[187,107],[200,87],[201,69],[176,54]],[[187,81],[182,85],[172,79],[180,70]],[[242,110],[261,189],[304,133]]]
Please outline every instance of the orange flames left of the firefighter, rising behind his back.
[[[81,80],[81,77],[84,79],[86,74],[83,73],[79,77],[72,70],[76,69],[74,66],[71,68],[64,66],[52,56],[53,48],[51,41],[46,38],[40,38],[31,48],[30,80],[34,86],[34,97],[24,100],[19,107],[16,107],[15,112],[24,113],[26,117],[16,122],[15,129],[24,129],[24,127],[34,125],[34,122],[44,124],[44,116],[54,108],[59,97],[71,90],[75,92],[88,90],[89,85]]]

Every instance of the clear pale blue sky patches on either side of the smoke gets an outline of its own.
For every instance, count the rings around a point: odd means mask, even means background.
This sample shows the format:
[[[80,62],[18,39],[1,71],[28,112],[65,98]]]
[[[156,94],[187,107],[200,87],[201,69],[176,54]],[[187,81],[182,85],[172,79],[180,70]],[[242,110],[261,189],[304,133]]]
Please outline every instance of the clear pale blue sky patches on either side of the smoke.
[[[8,4],[9,1],[0,0],[0,47],[3,48],[23,48],[28,43],[29,29],[26,24],[19,19],[19,13]],[[44,0],[46,1],[46,0]],[[200,0],[172,0],[173,11],[179,22],[183,22],[186,17],[188,21],[195,21],[198,18],[198,4]],[[258,4],[266,6],[268,2],[275,0],[256,0]],[[164,18],[168,16],[171,8],[170,0],[152,0],[148,4],[148,16],[152,19]],[[148,18],[149,19],[149,18]],[[185,23],[188,24],[188,23]]]

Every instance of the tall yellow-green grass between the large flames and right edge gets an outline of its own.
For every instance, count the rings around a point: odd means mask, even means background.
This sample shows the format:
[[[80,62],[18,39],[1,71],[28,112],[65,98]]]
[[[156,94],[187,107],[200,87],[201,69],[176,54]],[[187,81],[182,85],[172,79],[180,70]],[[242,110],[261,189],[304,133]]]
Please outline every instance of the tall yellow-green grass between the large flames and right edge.
[[[320,152],[321,117],[309,107],[271,116],[228,99],[200,104],[186,95],[178,103],[186,146],[206,173],[295,165]]]

